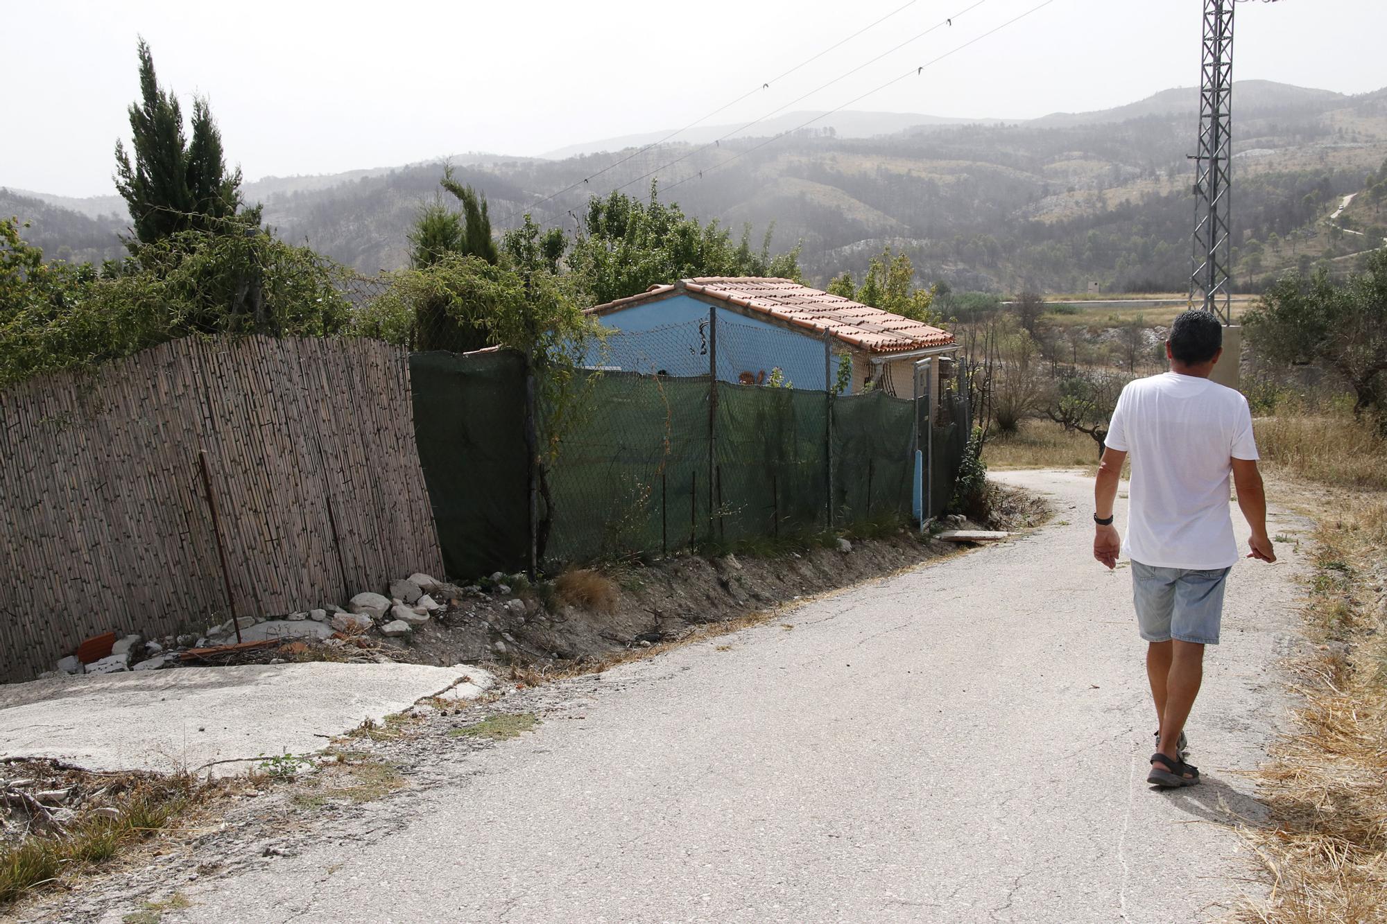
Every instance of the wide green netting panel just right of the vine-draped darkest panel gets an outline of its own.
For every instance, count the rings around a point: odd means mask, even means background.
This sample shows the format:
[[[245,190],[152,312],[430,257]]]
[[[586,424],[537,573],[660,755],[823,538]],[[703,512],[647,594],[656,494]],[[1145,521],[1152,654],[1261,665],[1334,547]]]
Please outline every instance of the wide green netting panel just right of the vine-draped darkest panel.
[[[548,470],[545,561],[662,552],[709,522],[709,383],[608,372]]]

